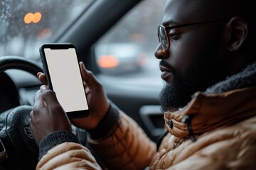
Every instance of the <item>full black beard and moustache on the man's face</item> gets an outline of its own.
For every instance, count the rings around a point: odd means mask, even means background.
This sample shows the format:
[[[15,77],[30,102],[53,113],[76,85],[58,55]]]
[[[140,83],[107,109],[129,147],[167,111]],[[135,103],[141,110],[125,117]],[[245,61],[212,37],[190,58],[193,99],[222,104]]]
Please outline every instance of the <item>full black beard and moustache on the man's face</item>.
[[[172,70],[173,79],[171,84],[165,83],[160,93],[161,111],[176,111],[191,101],[191,96],[196,91],[204,91],[220,80],[218,71],[206,63],[194,62],[190,64],[186,72],[180,77],[176,75],[175,69],[170,64],[160,62],[161,65]]]

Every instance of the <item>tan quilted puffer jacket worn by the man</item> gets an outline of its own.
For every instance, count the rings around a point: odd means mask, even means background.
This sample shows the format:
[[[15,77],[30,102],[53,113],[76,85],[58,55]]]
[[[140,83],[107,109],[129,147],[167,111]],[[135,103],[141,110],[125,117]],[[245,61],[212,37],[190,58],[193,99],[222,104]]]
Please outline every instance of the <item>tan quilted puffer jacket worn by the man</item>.
[[[193,117],[191,123],[183,123],[186,117]],[[124,113],[110,137],[89,142],[107,169],[256,169],[255,87],[220,94],[198,92],[186,108],[164,113],[164,120],[169,133],[157,152],[155,144]],[[63,143],[50,149],[37,168],[100,166],[82,145]]]

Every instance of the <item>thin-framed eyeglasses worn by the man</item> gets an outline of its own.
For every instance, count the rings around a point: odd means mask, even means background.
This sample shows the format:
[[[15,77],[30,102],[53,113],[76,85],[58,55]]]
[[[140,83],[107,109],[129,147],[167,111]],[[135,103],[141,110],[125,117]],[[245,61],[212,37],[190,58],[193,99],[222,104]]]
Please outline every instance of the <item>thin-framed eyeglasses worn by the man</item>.
[[[205,21],[205,22],[200,22],[200,23],[186,23],[186,24],[170,26],[170,27],[159,26],[157,29],[159,42],[161,42],[161,46],[164,50],[169,50],[169,48],[170,48],[169,33],[170,33],[171,29],[182,28],[182,27],[186,27],[186,26],[194,26],[194,25],[199,25],[199,24],[203,24],[203,23],[216,23],[216,22],[225,22],[225,21],[227,21],[227,20]]]

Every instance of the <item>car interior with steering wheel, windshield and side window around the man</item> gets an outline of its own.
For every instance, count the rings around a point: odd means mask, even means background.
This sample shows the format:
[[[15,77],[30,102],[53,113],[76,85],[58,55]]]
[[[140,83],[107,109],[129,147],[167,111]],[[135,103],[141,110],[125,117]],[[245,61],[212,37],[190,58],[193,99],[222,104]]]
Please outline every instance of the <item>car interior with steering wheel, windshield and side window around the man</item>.
[[[164,119],[159,106],[162,81],[154,49],[159,43],[156,28],[161,24],[165,1],[2,2],[0,169],[35,169],[38,162],[38,146],[28,122],[33,97],[41,86],[36,74],[43,72],[39,54],[43,43],[75,45],[78,60],[100,79],[112,103],[156,142],[164,132]],[[33,13],[33,23],[26,21],[26,13]],[[17,33],[11,32],[14,27]],[[100,163],[86,142],[86,131],[74,126],[73,132]]]

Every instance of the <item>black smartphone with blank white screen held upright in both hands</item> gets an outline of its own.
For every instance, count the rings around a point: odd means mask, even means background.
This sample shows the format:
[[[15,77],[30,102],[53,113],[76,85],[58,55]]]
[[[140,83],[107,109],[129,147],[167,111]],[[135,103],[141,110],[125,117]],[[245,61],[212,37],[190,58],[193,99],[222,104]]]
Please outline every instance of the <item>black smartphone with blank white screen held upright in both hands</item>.
[[[43,44],[39,51],[49,89],[55,91],[68,118],[89,115],[75,46],[69,43]]]

